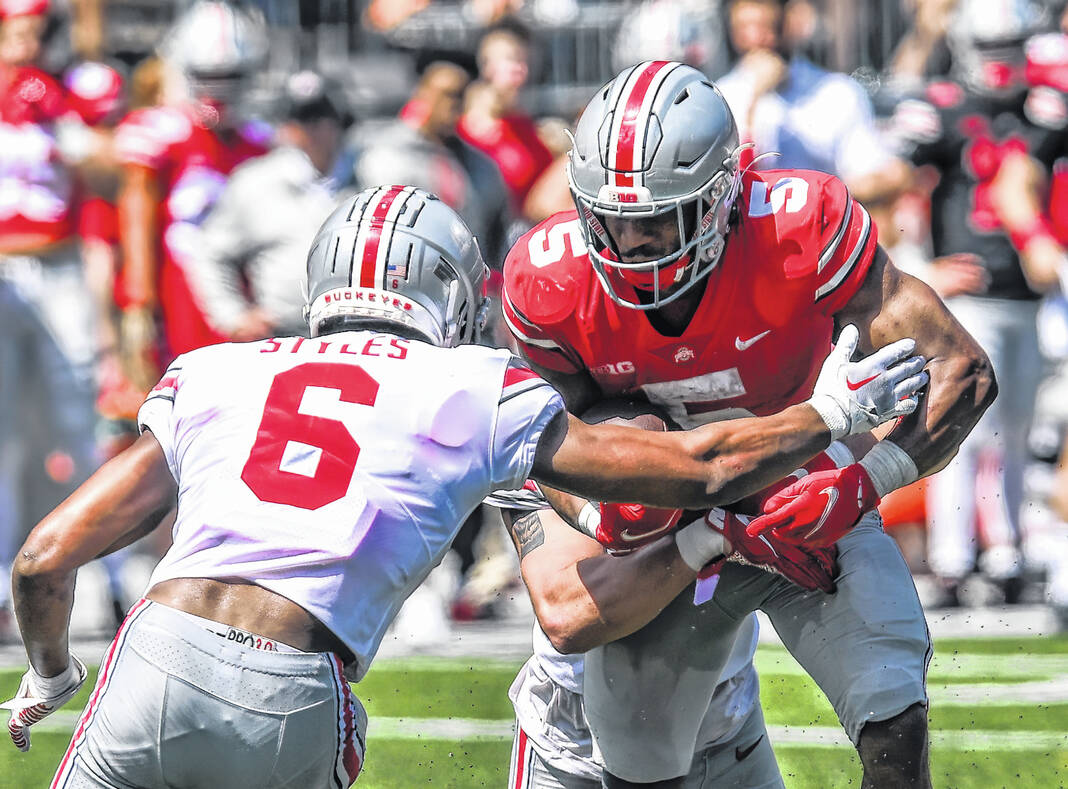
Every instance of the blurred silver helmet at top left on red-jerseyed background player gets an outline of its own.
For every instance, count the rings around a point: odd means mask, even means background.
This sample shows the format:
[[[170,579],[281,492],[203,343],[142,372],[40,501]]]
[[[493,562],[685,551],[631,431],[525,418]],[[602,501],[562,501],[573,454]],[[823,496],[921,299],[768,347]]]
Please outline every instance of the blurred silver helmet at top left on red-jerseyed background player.
[[[198,0],[163,36],[159,54],[198,99],[234,104],[267,57],[267,25],[255,7]]]

